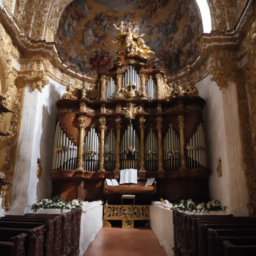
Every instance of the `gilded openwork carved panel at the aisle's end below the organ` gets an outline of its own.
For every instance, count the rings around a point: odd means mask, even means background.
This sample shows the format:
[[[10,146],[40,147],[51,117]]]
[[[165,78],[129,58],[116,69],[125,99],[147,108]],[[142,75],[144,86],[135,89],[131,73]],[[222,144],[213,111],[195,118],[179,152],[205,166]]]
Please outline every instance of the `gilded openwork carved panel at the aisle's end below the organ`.
[[[104,227],[111,227],[109,220],[122,220],[122,228],[134,228],[134,220],[150,220],[149,205],[104,205]]]

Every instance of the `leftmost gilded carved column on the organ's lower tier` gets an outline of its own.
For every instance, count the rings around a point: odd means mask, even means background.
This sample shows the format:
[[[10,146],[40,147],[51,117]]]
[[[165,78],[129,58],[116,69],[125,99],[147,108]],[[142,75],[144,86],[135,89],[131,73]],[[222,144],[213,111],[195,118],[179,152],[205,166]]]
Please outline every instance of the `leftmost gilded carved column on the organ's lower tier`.
[[[85,116],[80,116],[78,118],[79,123],[79,146],[78,146],[78,156],[77,156],[77,171],[83,171],[83,155],[84,155],[84,136],[85,136],[85,127],[89,118]]]

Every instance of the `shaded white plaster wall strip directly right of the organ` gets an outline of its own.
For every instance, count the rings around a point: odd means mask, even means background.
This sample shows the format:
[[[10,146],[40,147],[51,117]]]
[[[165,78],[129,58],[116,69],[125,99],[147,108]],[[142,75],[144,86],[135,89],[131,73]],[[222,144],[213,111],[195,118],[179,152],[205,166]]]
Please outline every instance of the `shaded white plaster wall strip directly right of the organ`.
[[[208,167],[211,170],[210,196],[218,199],[222,205],[228,206],[230,196],[228,192],[228,164],[225,122],[223,112],[223,93],[215,82],[206,77],[197,85],[199,95],[205,99],[204,121],[207,142]],[[217,159],[221,157],[223,176],[218,178]]]

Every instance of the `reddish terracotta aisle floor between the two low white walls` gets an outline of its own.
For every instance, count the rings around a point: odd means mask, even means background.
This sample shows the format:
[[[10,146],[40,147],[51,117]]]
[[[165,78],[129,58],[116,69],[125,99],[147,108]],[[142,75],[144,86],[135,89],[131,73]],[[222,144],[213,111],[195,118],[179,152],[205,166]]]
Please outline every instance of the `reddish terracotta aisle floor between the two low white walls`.
[[[150,229],[102,228],[84,256],[165,256]]]

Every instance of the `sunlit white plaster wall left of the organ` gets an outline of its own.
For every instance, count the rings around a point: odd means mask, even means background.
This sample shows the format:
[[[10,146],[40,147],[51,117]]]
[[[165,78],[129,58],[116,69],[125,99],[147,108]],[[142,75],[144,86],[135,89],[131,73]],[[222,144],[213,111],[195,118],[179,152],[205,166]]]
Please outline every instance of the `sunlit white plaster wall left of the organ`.
[[[25,88],[23,117],[15,164],[11,210],[8,214],[24,214],[29,206],[42,198],[51,197],[50,171],[57,107],[55,103],[65,87],[49,79],[43,92]],[[36,177],[37,158],[43,174]]]

